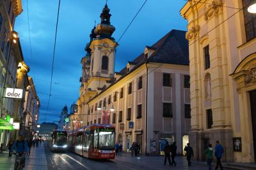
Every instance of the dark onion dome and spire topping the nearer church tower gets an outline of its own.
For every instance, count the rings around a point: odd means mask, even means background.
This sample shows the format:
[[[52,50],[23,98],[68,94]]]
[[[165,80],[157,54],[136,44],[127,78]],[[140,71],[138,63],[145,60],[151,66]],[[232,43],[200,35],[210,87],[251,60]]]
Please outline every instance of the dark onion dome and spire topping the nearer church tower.
[[[105,4],[100,14],[101,22],[94,30],[94,33],[97,35],[96,38],[111,38],[115,31],[115,27],[110,24],[111,14],[109,11],[108,4]]]

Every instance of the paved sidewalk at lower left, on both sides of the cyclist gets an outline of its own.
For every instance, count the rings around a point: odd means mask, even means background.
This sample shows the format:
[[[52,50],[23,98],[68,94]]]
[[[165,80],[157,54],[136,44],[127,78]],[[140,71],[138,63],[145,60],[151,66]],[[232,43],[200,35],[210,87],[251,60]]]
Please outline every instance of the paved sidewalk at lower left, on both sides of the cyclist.
[[[0,170],[14,168],[15,155],[8,158],[8,151],[0,153]],[[44,143],[39,144],[38,148],[31,148],[30,155],[26,155],[26,166],[24,170],[47,170],[47,159],[44,151]]]

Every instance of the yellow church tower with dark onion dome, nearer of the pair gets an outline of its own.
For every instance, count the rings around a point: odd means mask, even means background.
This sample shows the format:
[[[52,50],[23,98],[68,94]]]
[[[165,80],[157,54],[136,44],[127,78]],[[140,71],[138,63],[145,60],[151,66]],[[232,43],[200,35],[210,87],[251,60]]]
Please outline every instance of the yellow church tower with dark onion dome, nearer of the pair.
[[[110,24],[111,14],[106,4],[100,14],[101,22],[93,28],[94,33],[90,35],[90,84],[88,88],[93,91],[103,88],[106,81],[114,75],[114,63],[116,46],[112,37],[115,27]]]

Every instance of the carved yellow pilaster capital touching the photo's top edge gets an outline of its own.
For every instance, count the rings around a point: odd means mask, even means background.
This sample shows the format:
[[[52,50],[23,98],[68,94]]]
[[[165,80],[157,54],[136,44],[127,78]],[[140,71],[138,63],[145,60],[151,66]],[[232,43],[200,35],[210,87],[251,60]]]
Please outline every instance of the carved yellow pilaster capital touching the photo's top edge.
[[[222,0],[214,0],[212,4],[205,5],[204,19],[209,20],[213,15],[218,15],[223,8]]]

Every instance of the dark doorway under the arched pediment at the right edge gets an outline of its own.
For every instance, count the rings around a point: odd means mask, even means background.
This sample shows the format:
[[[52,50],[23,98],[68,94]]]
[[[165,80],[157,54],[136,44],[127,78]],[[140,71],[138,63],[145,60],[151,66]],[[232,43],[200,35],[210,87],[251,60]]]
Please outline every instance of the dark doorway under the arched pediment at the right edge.
[[[254,160],[256,162],[256,91],[250,92]]]

